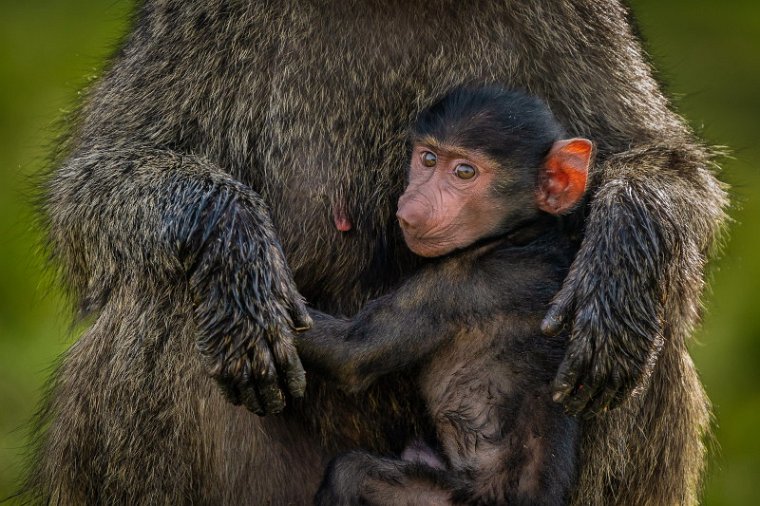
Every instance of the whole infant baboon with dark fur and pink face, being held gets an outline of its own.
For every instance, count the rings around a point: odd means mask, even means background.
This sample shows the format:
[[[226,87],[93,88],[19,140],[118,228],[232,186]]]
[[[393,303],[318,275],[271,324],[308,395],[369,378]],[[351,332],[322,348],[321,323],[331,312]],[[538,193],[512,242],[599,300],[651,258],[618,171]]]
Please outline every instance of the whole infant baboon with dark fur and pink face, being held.
[[[430,262],[351,319],[313,311],[298,349],[354,392],[417,368],[435,435],[401,459],[339,456],[317,503],[566,504],[579,424],[551,398],[564,337],[540,324],[572,261],[557,216],[585,192],[592,144],[494,87],[423,111],[412,144],[397,217]]]

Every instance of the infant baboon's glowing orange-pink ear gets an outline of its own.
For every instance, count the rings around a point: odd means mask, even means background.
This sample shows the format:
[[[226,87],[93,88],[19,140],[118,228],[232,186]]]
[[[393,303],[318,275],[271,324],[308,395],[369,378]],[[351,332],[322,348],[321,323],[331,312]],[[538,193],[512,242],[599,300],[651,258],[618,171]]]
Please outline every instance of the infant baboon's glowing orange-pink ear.
[[[538,176],[539,209],[562,214],[578,203],[586,192],[593,148],[590,140],[581,138],[554,143]]]

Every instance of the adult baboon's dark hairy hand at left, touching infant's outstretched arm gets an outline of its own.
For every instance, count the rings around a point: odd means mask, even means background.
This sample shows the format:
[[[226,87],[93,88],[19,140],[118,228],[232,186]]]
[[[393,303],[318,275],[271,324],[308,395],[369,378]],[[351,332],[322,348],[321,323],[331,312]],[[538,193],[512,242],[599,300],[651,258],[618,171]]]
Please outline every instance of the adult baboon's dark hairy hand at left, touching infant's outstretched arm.
[[[293,342],[311,318],[259,199],[222,196],[214,232],[192,269],[197,346],[229,400],[259,415],[301,397],[306,376]]]

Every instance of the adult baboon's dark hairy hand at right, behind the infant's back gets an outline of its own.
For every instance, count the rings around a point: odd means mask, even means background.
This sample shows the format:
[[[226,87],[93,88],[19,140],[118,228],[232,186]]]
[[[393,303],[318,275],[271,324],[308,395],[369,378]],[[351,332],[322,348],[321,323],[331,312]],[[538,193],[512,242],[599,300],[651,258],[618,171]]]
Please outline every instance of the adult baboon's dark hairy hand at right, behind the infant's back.
[[[548,335],[569,334],[553,393],[570,414],[620,405],[662,348],[663,240],[655,220],[635,212],[636,198],[631,188],[597,195],[583,245],[541,325]]]

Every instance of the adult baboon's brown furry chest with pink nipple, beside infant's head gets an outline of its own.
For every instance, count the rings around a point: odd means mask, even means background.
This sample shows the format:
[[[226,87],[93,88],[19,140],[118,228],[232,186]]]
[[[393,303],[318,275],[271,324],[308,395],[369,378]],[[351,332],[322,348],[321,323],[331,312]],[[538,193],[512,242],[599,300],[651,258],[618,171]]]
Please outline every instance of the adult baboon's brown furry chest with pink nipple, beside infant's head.
[[[375,278],[392,282],[408,125],[455,86],[509,83],[503,20],[459,3],[315,6],[284,24],[259,158],[288,262],[304,292],[314,287],[311,299],[355,299],[347,287],[366,294]]]

